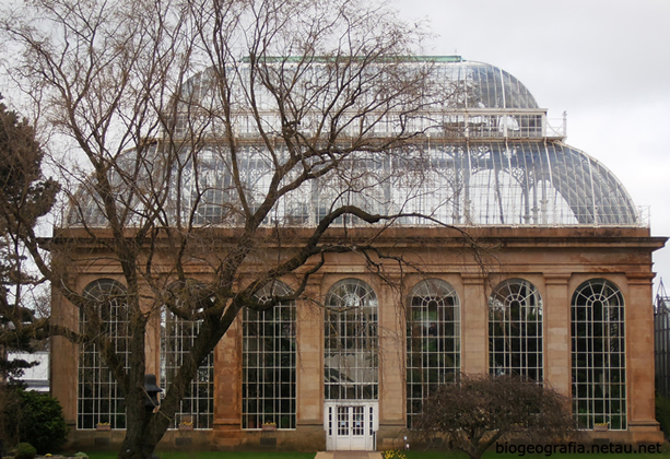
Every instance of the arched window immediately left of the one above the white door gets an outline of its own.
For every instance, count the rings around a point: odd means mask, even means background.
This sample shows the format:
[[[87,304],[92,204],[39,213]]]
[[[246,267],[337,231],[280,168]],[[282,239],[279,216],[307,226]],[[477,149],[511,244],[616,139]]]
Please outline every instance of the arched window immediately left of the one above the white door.
[[[289,295],[274,281],[256,292],[261,302]],[[295,302],[268,310],[245,308],[242,355],[242,428],[295,428],[296,422]]]

